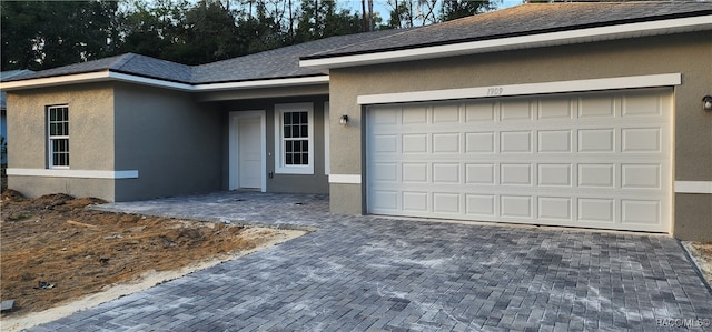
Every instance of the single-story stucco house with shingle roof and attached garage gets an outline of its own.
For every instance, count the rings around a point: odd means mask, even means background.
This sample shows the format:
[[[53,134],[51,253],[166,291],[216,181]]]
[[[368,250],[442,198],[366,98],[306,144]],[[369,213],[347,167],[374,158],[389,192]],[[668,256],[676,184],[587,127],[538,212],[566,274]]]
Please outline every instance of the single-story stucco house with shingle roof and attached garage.
[[[328,193],[336,213],[712,241],[711,2],[532,3],[2,90],[10,188],[31,195]]]

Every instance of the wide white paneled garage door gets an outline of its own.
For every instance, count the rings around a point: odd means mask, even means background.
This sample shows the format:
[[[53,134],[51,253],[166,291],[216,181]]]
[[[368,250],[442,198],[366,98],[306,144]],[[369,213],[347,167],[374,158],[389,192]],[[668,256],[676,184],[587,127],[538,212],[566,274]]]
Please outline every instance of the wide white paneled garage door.
[[[374,214],[669,232],[671,89],[373,105]]]

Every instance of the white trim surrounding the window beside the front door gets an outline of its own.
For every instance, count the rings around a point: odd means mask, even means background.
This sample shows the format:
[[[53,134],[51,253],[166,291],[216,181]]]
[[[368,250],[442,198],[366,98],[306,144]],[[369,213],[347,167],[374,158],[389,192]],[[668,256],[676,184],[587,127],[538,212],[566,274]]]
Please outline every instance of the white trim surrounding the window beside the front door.
[[[285,112],[307,112],[308,121],[308,147],[309,159],[305,165],[285,165],[283,149],[283,127],[281,119]],[[310,102],[303,103],[281,103],[275,104],[275,173],[277,174],[314,174],[314,104]]]

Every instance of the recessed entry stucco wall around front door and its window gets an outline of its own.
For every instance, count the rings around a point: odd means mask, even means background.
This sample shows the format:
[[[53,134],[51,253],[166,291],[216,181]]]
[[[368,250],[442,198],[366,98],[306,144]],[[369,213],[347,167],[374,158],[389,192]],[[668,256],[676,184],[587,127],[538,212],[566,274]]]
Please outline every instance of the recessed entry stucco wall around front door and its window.
[[[244,100],[222,102],[218,107],[222,114],[222,154],[228,155],[228,132],[229,114],[235,111],[265,111],[266,118],[266,144],[267,144],[267,177],[268,192],[296,192],[296,193],[328,193],[328,177],[324,171],[324,103],[328,101],[327,95],[299,97],[299,98],[274,98],[259,100]],[[303,103],[314,104],[314,174],[278,174],[275,173],[275,104]],[[228,188],[229,161],[227,158],[222,162],[222,188]]]

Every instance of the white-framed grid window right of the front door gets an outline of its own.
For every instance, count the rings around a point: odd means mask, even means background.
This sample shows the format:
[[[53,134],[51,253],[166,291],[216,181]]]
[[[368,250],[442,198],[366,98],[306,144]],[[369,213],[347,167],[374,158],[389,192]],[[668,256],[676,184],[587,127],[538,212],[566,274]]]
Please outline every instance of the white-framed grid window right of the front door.
[[[275,105],[275,172],[314,174],[314,105]]]

